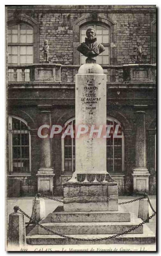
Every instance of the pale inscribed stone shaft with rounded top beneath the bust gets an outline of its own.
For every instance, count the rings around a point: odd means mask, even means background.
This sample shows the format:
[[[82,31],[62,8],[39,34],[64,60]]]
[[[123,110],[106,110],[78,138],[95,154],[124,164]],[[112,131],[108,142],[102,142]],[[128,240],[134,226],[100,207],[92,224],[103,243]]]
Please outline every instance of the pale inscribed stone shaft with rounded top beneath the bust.
[[[93,74],[86,74],[91,64],[85,64],[76,75],[76,131],[81,124],[88,125],[89,129],[92,125],[95,129],[100,125],[106,128],[106,75],[101,66],[93,66],[97,67],[91,71]],[[106,139],[103,136],[89,138],[89,133],[86,133],[76,138],[76,173],[106,173]]]

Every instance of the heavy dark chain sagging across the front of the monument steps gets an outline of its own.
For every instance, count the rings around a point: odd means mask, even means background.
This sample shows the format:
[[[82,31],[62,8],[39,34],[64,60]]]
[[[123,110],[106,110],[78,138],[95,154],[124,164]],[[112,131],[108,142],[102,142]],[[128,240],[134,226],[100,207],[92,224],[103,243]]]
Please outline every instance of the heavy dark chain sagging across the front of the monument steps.
[[[40,223],[38,223],[36,220],[33,220],[30,216],[28,216],[25,212],[23,212],[19,207],[18,210],[20,212],[22,212],[27,218],[29,218],[30,220],[32,220],[35,224],[37,224],[39,227],[47,230],[48,232],[51,232],[54,235],[58,235],[58,236],[62,236],[64,238],[68,238],[68,239],[73,239],[73,240],[77,240],[77,241],[101,241],[101,240],[107,240],[107,239],[111,239],[111,238],[115,238],[118,236],[123,236],[124,234],[127,234],[128,232],[131,232],[132,230],[135,230],[136,228],[142,226],[144,223],[148,222],[152,217],[154,217],[156,215],[156,212],[154,212],[149,218],[147,218],[146,220],[143,220],[143,222],[141,222],[140,224],[138,224],[137,226],[128,229],[127,231],[124,231],[122,233],[118,233],[116,235],[113,236],[108,236],[108,237],[102,237],[102,238],[93,238],[93,239],[85,239],[85,238],[76,238],[76,237],[71,237],[71,236],[65,236],[62,234],[58,234],[57,232],[54,232],[53,230],[50,230],[49,228],[46,228],[44,226],[42,226]]]

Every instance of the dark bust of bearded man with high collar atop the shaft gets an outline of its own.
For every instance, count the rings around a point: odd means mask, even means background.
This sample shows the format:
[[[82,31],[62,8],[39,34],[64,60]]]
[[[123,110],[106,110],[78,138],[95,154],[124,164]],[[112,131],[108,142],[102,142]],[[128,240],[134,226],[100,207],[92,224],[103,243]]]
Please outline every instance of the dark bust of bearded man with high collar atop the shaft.
[[[85,42],[77,47],[77,51],[88,57],[86,63],[95,63],[93,57],[98,56],[101,52],[105,51],[102,44],[97,43],[96,32],[94,28],[88,28],[86,31]]]

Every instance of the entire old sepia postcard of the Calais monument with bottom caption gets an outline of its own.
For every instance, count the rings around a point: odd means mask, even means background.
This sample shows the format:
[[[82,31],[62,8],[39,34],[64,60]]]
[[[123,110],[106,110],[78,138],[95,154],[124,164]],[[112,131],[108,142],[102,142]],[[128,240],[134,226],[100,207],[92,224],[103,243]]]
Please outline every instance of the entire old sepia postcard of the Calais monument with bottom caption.
[[[5,12],[6,251],[156,251],[156,6]]]

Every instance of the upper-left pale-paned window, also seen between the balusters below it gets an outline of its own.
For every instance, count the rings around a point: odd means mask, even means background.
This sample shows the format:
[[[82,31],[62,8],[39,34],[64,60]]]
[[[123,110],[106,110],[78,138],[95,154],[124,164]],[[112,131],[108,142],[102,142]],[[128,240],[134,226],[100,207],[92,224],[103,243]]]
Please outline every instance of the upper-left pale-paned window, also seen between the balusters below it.
[[[8,64],[27,65],[33,63],[33,28],[26,24],[11,25],[7,31]],[[17,70],[17,81],[21,81],[21,70]],[[29,69],[25,69],[29,81]],[[13,69],[9,70],[9,81],[13,81]]]

